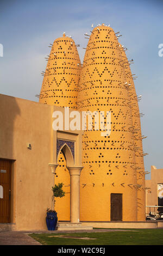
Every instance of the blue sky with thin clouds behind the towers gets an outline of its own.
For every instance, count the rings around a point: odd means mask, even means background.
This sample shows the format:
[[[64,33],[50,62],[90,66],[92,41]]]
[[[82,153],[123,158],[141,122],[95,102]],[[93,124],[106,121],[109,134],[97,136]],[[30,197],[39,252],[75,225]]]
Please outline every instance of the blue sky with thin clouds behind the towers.
[[[163,57],[159,57],[159,44],[163,44],[163,1],[157,0],[1,0],[0,44],[4,56],[0,57],[0,93],[38,101],[41,71],[46,68],[48,47],[63,32],[71,35],[78,47],[81,61],[91,24],[105,23],[120,31],[120,43],[134,59],[131,71],[139,78],[135,81],[139,103],[145,170],[151,165],[163,168]],[[146,175],[149,179],[150,175]]]

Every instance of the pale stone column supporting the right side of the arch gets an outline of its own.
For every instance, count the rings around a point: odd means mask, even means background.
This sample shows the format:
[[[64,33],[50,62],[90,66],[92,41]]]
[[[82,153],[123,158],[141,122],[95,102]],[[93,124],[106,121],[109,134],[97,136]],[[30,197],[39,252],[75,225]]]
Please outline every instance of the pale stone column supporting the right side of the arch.
[[[80,221],[80,173],[83,167],[67,167],[70,173],[70,220]]]

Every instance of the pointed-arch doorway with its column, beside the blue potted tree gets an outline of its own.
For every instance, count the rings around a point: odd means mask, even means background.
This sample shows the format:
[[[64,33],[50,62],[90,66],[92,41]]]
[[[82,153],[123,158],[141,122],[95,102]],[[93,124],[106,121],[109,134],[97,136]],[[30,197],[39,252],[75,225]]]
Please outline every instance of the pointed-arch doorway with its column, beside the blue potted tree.
[[[82,133],[78,136],[78,134],[57,132],[56,142],[57,147],[54,144],[55,148],[53,149],[54,153],[57,154],[54,154],[53,161],[49,163],[49,166],[55,176],[54,184],[61,182],[64,184],[66,197],[64,198],[65,202],[63,202],[63,198],[58,198],[55,209],[58,211],[60,221],[79,223],[80,173],[83,169]]]

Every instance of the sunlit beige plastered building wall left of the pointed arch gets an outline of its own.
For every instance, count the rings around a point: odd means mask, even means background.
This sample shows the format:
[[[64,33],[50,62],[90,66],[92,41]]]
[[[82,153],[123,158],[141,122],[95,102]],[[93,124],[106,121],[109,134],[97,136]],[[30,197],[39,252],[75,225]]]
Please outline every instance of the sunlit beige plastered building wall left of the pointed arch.
[[[64,108],[0,94],[0,109],[0,159],[12,160],[11,223],[16,224],[16,230],[47,229],[46,209],[52,207],[54,185],[48,164],[57,162],[52,113],[59,110],[64,114]],[[78,152],[74,164],[82,166],[82,132],[59,133],[59,138],[71,136],[76,138]],[[28,149],[28,143],[32,149]],[[65,211],[66,207],[70,209],[67,202],[70,199],[66,201],[65,197]],[[58,206],[57,211],[60,215]]]

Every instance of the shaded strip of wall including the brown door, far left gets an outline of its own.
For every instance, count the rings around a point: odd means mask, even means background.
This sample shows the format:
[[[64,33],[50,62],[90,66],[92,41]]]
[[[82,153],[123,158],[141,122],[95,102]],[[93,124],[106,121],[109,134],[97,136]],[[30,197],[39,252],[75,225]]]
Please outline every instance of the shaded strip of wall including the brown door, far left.
[[[17,115],[20,115],[20,108],[16,99],[11,96],[0,94],[0,185],[4,193],[0,200],[0,222],[14,222],[12,212],[15,212],[14,199],[14,176],[11,163],[14,161],[14,123]]]

